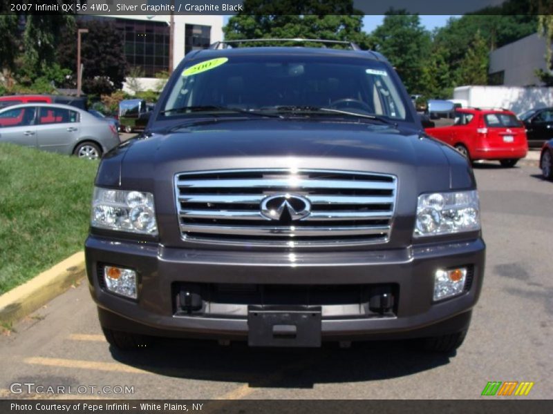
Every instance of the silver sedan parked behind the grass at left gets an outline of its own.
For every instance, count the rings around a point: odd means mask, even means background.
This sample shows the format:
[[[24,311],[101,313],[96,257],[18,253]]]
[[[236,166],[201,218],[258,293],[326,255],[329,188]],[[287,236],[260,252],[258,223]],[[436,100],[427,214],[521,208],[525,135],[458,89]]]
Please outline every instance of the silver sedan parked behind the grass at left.
[[[0,142],[97,159],[120,144],[113,124],[57,103],[25,103],[0,110]]]

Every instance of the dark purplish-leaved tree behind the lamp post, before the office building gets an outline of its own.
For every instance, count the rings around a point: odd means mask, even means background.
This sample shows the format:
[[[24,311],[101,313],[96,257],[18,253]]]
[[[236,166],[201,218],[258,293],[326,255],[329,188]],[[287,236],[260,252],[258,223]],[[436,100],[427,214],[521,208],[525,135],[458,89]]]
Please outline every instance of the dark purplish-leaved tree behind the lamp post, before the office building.
[[[91,95],[110,95],[121,89],[125,80],[127,64],[123,50],[123,39],[108,21],[91,20],[79,24],[88,28],[82,35],[81,61],[84,66],[82,89]],[[67,28],[57,50],[60,66],[73,72],[67,86],[75,88],[77,83],[77,28]]]

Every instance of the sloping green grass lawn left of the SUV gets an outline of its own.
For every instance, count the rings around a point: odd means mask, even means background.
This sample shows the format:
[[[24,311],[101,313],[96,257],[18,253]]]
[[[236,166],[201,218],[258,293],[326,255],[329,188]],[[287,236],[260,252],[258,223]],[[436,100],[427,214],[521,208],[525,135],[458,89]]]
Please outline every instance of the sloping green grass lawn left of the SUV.
[[[97,167],[0,144],[0,295],[83,249]]]

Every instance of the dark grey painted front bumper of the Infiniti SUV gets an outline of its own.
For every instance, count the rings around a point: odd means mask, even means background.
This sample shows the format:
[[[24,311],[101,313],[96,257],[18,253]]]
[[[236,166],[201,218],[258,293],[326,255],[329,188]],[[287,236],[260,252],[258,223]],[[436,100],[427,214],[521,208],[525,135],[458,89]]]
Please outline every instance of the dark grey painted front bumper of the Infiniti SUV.
[[[467,328],[482,286],[482,239],[393,250],[328,253],[187,250],[91,235],[86,240],[91,295],[106,328],[169,337],[246,339],[247,317],[178,315],[175,284],[330,285],[391,284],[397,288],[394,315],[325,317],[323,340],[390,339],[444,335]],[[101,286],[102,264],[138,273],[138,301]],[[469,288],[458,297],[433,303],[438,268],[470,266]]]

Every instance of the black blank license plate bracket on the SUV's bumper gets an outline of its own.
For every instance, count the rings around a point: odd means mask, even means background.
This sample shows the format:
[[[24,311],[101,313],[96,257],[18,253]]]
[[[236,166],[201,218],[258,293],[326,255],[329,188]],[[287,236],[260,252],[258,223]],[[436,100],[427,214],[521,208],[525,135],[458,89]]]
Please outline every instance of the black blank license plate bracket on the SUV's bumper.
[[[250,346],[321,346],[321,306],[247,307]]]

